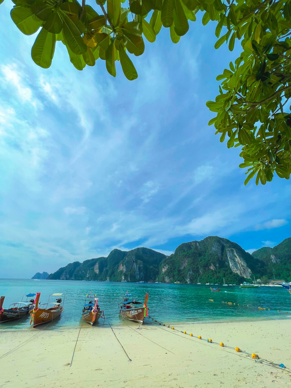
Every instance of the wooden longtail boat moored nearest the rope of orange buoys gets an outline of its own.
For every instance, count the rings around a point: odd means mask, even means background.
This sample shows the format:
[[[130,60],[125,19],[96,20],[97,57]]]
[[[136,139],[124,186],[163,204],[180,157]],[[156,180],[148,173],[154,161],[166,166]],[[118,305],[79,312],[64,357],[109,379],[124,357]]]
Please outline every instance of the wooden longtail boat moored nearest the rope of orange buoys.
[[[122,298],[123,302],[121,303],[119,312],[122,318],[143,324],[145,317],[148,315],[149,308],[147,307],[147,300],[149,298],[149,294],[145,293],[143,307],[142,302],[138,302],[133,299],[132,294],[129,294],[128,291],[126,291],[126,294],[124,294]]]

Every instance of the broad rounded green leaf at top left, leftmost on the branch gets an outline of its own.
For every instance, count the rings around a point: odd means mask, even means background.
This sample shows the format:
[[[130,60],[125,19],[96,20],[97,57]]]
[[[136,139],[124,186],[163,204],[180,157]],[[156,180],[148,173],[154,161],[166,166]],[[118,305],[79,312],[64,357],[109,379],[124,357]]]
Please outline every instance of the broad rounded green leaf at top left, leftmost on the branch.
[[[42,25],[42,21],[28,7],[13,7],[10,16],[25,35],[34,34]]]

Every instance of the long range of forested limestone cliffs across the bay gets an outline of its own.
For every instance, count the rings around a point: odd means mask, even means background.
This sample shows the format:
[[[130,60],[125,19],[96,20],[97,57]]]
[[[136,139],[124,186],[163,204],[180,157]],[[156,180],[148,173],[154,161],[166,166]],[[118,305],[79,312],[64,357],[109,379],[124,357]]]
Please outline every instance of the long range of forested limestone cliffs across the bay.
[[[185,242],[170,256],[149,248],[113,249],[107,257],[69,263],[47,274],[47,279],[221,284],[224,277],[226,283],[239,284],[253,277],[267,281],[274,276],[291,281],[291,237],[252,255],[218,236]]]

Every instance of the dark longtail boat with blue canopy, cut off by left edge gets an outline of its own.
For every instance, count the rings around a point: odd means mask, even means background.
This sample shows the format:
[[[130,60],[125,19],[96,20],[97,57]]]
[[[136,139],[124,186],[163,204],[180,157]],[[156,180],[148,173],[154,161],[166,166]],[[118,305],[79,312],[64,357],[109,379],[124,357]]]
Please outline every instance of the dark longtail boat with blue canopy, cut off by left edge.
[[[11,303],[8,308],[3,308],[5,296],[0,297],[0,322],[25,317],[34,305],[36,294],[23,295],[20,302]],[[33,297],[33,299],[30,299]]]

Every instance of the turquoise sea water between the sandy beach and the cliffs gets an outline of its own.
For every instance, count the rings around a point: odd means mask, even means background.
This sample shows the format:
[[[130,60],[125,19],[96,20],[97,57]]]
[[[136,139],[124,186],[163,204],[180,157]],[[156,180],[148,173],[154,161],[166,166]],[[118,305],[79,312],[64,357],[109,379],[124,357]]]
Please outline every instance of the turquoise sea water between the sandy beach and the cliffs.
[[[90,291],[99,297],[98,304],[111,324],[121,322],[118,303],[127,290],[139,301],[144,301],[145,292],[149,292],[149,315],[166,324],[291,319],[291,295],[283,287],[242,289],[239,286],[221,286],[220,289],[221,292],[212,292],[210,286],[196,284],[0,279],[0,295],[5,295],[4,308],[20,301],[28,293],[41,292],[41,303],[46,303],[51,293],[65,293],[64,312],[60,319],[53,322],[53,327],[78,326],[85,295]],[[232,305],[225,302],[232,302]],[[267,310],[262,311],[258,307]],[[29,327],[29,316],[0,324],[0,329],[12,324],[13,329]]]

